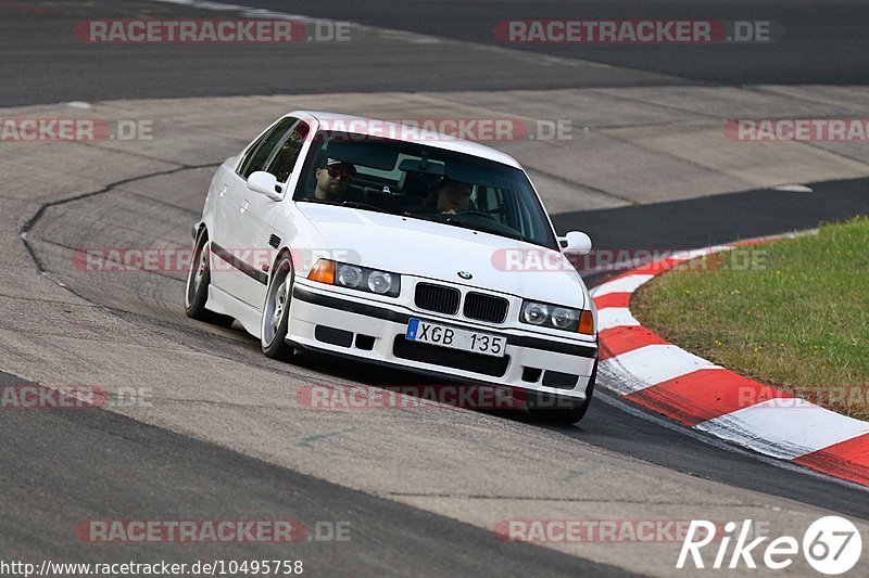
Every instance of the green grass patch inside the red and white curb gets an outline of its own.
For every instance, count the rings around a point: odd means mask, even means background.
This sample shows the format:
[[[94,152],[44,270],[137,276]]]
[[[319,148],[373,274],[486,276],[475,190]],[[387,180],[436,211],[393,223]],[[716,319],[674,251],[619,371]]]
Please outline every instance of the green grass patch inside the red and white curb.
[[[869,419],[869,217],[690,261],[631,310],[714,363]]]

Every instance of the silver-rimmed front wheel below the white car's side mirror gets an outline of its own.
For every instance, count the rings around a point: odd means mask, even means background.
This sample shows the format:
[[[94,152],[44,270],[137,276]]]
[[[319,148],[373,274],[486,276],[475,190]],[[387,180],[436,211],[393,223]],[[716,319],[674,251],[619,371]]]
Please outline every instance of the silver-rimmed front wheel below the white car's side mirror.
[[[288,254],[280,255],[268,278],[260,327],[263,354],[272,359],[288,361],[294,352],[294,348],[285,341],[289,327],[292,281],[292,260]]]

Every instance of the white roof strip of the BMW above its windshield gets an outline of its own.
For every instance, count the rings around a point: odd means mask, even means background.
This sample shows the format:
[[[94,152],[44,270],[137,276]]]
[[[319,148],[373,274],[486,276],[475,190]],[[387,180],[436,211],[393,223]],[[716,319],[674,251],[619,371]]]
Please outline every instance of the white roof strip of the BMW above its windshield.
[[[320,125],[331,124],[333,126],[345,127],[348,132],[353,132],[356,134],[383,137],[385,130],[391,130],[392,128],[398,130],[401,128],[401,125],[398,123],[390,123],[376,118],[366,118],[364,116],[329,113],[324,111],[293,111],[289,113],[288,116],[299,116],[303,114],[314,117]],[[498,163],[503,163],[505,165],[521,169],[521,165],[519,165],[515,158],[490,146],[430,130],[418,129],[418,134],[421,139],[426,139],[427,144],[430,144],[431,146],[488,158],[489,160],[495,160]],[[396,140],[402,139],[396,138]]]

